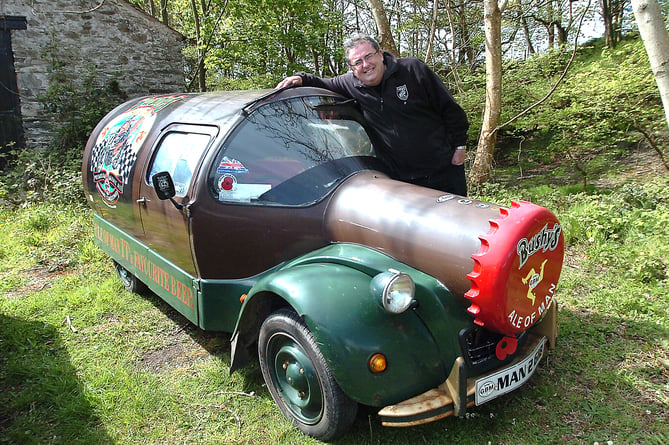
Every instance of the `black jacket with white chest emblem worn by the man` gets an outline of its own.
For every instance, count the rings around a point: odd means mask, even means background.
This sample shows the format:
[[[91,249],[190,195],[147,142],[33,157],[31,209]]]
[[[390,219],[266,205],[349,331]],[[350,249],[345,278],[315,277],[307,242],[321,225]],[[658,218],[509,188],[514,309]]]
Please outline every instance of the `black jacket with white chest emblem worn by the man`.
[[[441,79],[418,59],[383,53],[383,80],[368,87],[352,72],[323,79],[298,73],[302,84],[356,99],[374,134],[377,154],[395,177],[428,176],[449,165],[455,147],[465,145],[469,122]]]

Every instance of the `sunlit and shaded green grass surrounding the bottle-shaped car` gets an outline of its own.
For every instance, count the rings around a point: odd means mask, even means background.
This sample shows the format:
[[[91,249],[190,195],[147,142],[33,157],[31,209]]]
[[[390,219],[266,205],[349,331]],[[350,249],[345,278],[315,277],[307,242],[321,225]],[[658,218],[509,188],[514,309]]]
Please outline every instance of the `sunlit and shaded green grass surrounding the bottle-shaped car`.
[[[488,200],[531,199],[564,224],[557,348],[465,418],[391,429],[362,410],[335,443],[668,443],[669,174],[653,176],[498,187]],[[123,289],[87,209],[2,210],[0,246],[0,444],[317,443],[257,366],[229,375],[227,334]]]

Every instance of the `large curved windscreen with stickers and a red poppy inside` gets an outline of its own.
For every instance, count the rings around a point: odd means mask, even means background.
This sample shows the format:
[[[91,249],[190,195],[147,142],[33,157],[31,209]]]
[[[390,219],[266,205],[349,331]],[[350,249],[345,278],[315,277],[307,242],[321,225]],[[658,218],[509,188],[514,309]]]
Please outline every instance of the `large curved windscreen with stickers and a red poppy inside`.
[[[374,150],[362,118],[337,101],[314,96],[254,110],[209,173],[213,196],[220,202],[308,204],[365,168]]]

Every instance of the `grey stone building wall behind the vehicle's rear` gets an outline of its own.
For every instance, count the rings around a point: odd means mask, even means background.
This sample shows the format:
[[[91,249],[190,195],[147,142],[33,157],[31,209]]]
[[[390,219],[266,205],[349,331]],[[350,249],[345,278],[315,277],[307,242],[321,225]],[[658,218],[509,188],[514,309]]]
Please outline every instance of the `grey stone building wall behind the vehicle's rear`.
[[[39,148],[51,125],[38,97],[54,61],[129,97],[183,91],[184,38],[127,0],[0,1],[0,148]]]

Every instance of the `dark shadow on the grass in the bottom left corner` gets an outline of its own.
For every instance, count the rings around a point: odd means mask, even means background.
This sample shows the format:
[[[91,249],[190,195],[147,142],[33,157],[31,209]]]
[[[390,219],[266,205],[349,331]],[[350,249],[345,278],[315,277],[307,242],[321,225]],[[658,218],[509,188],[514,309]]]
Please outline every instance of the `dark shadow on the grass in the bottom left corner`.
[[[57,330],[0,314],[0,443],[111,444]]]

